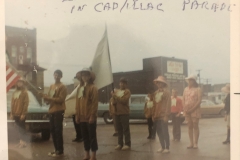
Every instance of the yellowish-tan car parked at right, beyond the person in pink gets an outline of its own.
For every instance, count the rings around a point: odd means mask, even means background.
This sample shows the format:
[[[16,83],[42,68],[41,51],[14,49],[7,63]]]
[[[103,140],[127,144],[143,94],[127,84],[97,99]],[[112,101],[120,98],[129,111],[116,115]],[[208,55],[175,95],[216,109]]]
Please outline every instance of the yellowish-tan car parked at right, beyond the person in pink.
[[[202,115],[225,115],[224,103],[214,104],[210,100],[202,100],[201,102]]]

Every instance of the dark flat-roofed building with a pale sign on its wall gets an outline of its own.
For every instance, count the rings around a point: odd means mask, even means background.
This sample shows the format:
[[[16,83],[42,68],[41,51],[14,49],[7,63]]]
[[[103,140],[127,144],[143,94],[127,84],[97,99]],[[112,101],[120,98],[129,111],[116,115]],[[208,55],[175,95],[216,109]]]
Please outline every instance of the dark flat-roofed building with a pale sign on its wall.
[[[169,82],[168,89],[175,88],[179,95],[182,95],[187,74],[187,60],[161,56],[143,59],[142,70],[113,73],[113,79],[116,88],[119,88],[119,79],[125,77],[128,79],[128,88],[132,94],[147,94],[156,90],[153,80],[162,75]],[[112,85],[100,89],[99,101],[107,103],[111,90]]]

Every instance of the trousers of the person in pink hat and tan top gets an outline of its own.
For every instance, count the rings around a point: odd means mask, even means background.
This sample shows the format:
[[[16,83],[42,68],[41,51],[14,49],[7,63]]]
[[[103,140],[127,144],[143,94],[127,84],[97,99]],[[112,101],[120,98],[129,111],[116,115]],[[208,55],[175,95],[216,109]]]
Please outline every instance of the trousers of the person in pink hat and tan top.
[[[170,143],[168,133],[168,122],[164,122],[163,120],[157,120],[155,124],[162,149],[169,149]]]

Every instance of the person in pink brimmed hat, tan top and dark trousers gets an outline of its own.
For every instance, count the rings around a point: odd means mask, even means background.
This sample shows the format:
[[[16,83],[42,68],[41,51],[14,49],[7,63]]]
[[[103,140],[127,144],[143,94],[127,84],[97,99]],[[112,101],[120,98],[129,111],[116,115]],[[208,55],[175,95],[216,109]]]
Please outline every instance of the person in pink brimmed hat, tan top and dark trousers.
[[[168,118],[171,114],[171,95],[167,91],[167,81],[163,76],[155,79],[154,83],[158,89],[154,92],[152,119],[162,147],[157,152],[169,153]]]

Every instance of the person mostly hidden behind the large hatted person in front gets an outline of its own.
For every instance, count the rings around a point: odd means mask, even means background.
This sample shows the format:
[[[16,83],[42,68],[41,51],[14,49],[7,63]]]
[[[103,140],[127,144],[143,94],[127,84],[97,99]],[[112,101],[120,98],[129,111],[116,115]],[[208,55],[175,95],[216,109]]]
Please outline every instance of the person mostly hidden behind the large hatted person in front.
[[[80,72],[78,72],[73,79],[74,88],[76,88],[79,85],[79,82],[80,82]],[[81,132],[81,125],[76,123],[75,114],[72,116],[72,120],[73,120],[74,128],[76,131],[76,138],[73,139],[72,142],[82,142],[83,138],[82,138],[82,132]]]

